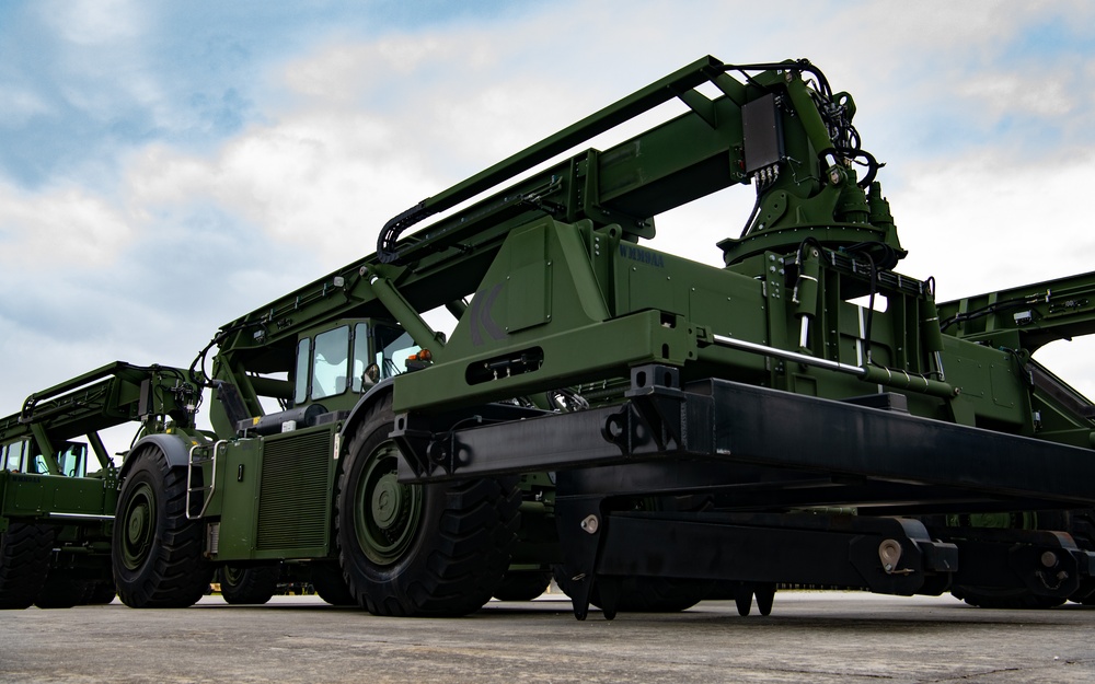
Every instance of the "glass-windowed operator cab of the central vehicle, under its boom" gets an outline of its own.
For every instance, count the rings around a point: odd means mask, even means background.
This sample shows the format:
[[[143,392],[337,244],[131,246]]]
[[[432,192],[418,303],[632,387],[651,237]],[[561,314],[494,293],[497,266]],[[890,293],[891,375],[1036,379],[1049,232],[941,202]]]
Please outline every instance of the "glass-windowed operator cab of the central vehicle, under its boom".
[[[355,395],[406,372],[407,357],[419,351],[411,335],[395,323],[377,318],[339,321],[304,333],[297,341],[293,405],[322,401],[342,407]]]

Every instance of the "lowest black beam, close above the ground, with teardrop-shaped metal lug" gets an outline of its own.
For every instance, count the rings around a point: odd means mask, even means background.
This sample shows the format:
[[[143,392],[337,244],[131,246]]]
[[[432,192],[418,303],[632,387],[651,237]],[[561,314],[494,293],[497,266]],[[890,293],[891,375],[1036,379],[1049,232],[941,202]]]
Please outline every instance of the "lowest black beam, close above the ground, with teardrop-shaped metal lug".
[[[598,575],[768,581],[937,594],[957,549],[920,523],[808,514],[613,513],[606,515]],[[900,549],[887,571],[879,546]],[[935,579],[937,578],[937,579]]]

